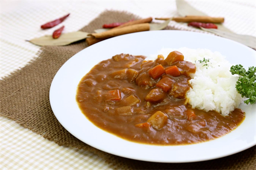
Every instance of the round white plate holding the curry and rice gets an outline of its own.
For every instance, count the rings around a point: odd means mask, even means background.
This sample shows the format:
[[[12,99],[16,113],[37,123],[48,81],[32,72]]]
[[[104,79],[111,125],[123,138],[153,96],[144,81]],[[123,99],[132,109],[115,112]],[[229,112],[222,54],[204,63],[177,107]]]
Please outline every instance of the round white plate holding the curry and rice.
[[[81,78],[102,60],[116,54],[157,54],[163,47],[208,48],[219,51],[232,64],[255,66],[255,51],[240,43],[202,33],[148,31],[118,36],[87,47],[58,70],[51,89],[52,110],[60,124],[81,141],[114,155],[152,162],[195,162],[216,159],[246,150],[256,144],[256,107],[241,105],[244,122],[231,133],[215,140],[178,146],[139,144],[121,139],[94,126],[76,103]]]

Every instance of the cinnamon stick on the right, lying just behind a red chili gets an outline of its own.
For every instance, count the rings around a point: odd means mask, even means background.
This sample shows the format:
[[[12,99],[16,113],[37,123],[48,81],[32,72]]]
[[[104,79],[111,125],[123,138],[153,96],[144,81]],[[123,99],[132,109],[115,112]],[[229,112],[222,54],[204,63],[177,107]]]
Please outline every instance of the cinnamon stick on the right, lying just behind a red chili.
[[[170,18],[155,18],[160,20],[167,20]],[[173,17],[172,20],[176,22],[210,22],[210,23],[223,23],[223,17],[210,17],[210,16],[193,16],[188,15],[185,17]]]

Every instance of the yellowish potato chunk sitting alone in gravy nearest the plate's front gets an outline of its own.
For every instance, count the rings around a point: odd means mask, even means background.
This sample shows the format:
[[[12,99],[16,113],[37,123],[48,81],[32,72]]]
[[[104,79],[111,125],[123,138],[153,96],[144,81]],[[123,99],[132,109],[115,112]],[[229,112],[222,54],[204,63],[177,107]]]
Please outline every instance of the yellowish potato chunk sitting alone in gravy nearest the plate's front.
[[[157,130],[160,130],[167,124],[167,115],[161,111],[157,111],[150,118],[148,118],[147,123]]]

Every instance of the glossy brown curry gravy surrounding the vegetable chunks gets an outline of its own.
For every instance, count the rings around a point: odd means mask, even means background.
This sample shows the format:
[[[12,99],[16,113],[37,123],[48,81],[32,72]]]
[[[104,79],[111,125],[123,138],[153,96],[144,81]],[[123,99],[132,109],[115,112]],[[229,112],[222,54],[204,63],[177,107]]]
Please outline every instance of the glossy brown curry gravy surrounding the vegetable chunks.
[[[191,69],[184,62],[176,62],[182,74],[178,77],[162,75],[158,79],[148,76],[148,70],[161,64],[169,65],[163,58],[155,61],[143,62],[145,57],[120,54],[112,59],[101,61],[84,76],[77,89],[76,100],[80,110],[97,127],[115,134],[126,140],[158,145],[190,144],[218,138],[237,128],[244,120],[245,113],[241,109],[235,109],[229,116],[222,116],[215,111],[191,109],[186,104],[185,93],[190,88],[188,74]],[[184,66],[185,65],[185,66]],[[190,65],[191,66],[191,65]],[[193,66],[192,66],[193,67]],[[123,78],[115,75],[115,72],[131,68],[138,71],[136,79]],[[195,71],[195,70],[194,70]],[[114,72],[114,75],[113,75]],[[193,72],[193,70],[192,70]],[[172,89],[163,92],[159,101],[145,101],[145,97],[156,84],[164,77],[174,80]],[[121,100],[106,100],[111,90],[121,92]],[[117,112],[117,108],[127,106],[122,102],[129,96],[136,96],[139,103],[129,106],[128,114]],[[146,123],[157,111],[167,116],[164,126],[156,129],[153,126],[138,126]],[[194,112],[195,117],[189,119],[188,112]]]

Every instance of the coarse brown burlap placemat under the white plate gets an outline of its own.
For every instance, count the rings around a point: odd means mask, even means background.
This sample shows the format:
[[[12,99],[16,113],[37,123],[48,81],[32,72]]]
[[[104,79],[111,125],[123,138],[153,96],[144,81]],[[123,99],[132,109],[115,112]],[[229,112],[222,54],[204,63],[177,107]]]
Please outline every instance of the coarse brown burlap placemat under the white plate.
[[[139,17],[126,12],[106,11],[81,31],[93,32],[101,28],[104,23],[124,22],[133,18]],[[0,115],[59,145],[93,152],[118,169],[256,169],[256,147],[210,161],[153,163],[114,156],[92,148],[75,138],[54,116],[49,102],[49,90],[53,77],[62,64],[86,47],[84,41],[68,46],[42,47],[37,58],[0,81]]]

